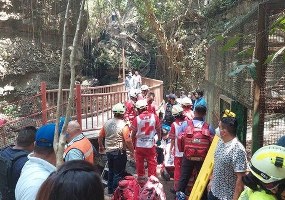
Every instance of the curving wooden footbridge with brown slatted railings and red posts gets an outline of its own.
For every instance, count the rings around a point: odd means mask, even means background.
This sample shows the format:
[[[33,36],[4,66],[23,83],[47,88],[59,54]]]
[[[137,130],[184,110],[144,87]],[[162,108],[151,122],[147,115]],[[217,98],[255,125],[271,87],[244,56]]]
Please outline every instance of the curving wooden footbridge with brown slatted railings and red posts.
[[[119,82],[121,83],[87,88],[82,88],[80,84],[76,85],[71,118],[81,124],[84,135],[89,139],[97,138],[104,122],[113,117],[113,105],[127,100],[128,91],[125,91],[121,78]],[[155,101],[161,103],[163,82],[142,78],[142,83],[150,87],[150,91],[155,94]],[[69,91],[69,89],[62,90],[61,116],[66,114]],[[42,82],[39,94],[0,106],[0,112],[12,110],[16,113],[15,116],[6,119],[6,123],[0,125],[0,148],[14,143],[16,133],[26,126],[40,127],[55,122],[57,96],[58,89],[46,90],[45,82]],[[4,117],[5,115],[0,114],[0,120]]]

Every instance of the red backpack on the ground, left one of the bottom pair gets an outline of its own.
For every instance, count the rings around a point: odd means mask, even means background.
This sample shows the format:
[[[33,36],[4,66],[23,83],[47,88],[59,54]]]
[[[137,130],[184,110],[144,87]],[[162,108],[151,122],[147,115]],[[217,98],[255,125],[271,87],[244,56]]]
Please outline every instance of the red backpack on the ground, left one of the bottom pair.
[[[119,181],[112,200],[137,200],[140,190],[141,188],[135,177],[125,176],[123,180]]]

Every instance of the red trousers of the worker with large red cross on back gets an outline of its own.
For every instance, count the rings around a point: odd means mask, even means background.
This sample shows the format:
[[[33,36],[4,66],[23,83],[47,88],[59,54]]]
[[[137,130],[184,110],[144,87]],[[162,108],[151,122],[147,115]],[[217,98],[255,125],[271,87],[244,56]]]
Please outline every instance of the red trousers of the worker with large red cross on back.
[[[156,176],[157,158],[155,146],[152,148],[135,148],[136,171],[138,176],[137,180],[140,186],[143,186],[146,182],[144,159],[147,161],[148,177],[151,175]]]

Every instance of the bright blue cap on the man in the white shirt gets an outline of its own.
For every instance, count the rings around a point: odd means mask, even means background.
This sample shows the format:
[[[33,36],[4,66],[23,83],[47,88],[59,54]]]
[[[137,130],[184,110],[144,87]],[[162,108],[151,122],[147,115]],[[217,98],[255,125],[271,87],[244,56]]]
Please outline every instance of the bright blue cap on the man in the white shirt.
[[[61,132],[62,126],[59,125],[59,135]],[[35,145],[36,146],[46,146],[52,147],[54,140],[54,132],[55,132],[55,123],[50,123],[44,126],[41,126],[35,135]],[[44,139],[45,141],[40,141]]]

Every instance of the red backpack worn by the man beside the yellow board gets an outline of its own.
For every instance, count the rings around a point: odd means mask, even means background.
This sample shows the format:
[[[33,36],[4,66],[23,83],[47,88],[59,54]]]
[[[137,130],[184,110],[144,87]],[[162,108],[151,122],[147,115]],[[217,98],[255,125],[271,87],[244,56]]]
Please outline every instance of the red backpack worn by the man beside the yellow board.
[[[193,121],[188,121],[185,132],[178,135],[178,149],[184,152],[187,159],[203,161],[207,155],[213,136],[210,135],[209,124],[204,123],[201,128],[194,127]]]

